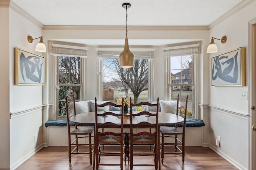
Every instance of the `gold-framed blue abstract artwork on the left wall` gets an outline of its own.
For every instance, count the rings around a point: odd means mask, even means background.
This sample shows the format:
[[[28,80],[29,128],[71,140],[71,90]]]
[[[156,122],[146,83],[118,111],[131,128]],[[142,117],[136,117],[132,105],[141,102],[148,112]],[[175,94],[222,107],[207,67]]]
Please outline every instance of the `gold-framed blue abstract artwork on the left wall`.
[[[44,57],[15,48],[15,84],[44,84]]]

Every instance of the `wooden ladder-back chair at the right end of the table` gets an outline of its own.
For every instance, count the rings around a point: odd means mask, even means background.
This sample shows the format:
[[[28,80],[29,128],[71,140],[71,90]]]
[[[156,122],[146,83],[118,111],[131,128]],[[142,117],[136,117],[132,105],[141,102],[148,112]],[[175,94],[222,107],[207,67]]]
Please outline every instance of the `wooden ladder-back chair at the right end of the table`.
[[[160,133],[162,136],[161,140],[161,162],[164,163],[164,154],[182,154],[182,163],[185,160],[185,129],[186,129],[186,115],[187,115],[187,106],[188,106],[188,96],[186,99],[180,100],[185,106],[179,106],[179,95],[177,98],[177,109],[176,114],[184,117],[184,122],[182,127],[178,127],[178,124],[175,124],[174,127],[170,126],[160,126]],[[170,113],[171,114],[171,113]],[[165,138],[171,138],[170,141],[166,142]],[[174,147],[173,151],[165,151],[165,146]]]

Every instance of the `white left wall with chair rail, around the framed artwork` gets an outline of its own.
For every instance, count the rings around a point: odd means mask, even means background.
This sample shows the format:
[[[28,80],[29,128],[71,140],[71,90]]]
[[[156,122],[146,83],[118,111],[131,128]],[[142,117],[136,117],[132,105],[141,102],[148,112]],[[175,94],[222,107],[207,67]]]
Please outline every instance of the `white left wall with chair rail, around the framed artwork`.
[[[10,121],[10,169],[14,169],[42,147],[43,87],[42,85],[14,85],[14,48],[42,55],[35,51],[39,40],[33,43],[28,43],[27,40],[28,35],[33,38],[40,37],[42,29],[13,9],[9,8],[9,10],[10,94],[8,96],[10,96],[10,113],[13,116],[8,121]],[[34,135],[38,135],[36,143],[34,143]],[[1,140],[6,141],[2,137]]]

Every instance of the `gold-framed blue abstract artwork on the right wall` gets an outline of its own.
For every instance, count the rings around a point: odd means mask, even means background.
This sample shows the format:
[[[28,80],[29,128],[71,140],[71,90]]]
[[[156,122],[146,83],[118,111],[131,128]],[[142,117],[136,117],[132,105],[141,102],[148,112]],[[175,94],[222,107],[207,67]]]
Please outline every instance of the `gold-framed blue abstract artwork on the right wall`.
[[[212,57],[212,86],[245,86],[245,49]]]

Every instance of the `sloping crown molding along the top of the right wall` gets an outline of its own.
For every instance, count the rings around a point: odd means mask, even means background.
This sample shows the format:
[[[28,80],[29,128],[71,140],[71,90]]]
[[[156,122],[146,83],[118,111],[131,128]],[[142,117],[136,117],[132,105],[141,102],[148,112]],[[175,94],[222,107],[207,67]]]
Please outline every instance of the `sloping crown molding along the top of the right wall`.
[[[218,25],[222,21],[226,20],[230,16],[234,15],[236,12],[242,10],[243,8],[245,8],[246,6],[248,6],[250,3],[254,2],[254,1],[255,0],[243,0],[242,2],[240,2],[240,4],[238,4],[237,6],[235,6],[234,8],[232,8],[231,10],[229,10],[228,12],[223,14],[217,20],[213,21],[210,25],[208,25],[208,28],[212,29],[213,27],[215,27],[216,25]]]

